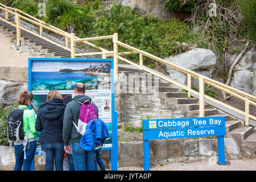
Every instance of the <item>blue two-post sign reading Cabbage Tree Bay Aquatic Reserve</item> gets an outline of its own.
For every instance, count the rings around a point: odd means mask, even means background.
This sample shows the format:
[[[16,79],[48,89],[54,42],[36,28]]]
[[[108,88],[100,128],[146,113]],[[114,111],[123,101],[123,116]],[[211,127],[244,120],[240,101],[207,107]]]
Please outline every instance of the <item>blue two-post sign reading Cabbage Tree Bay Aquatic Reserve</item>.
[[[143,120],[144,171],[150,170],[149,140],[218,136],[218,162],[225,164],[225,117]]]

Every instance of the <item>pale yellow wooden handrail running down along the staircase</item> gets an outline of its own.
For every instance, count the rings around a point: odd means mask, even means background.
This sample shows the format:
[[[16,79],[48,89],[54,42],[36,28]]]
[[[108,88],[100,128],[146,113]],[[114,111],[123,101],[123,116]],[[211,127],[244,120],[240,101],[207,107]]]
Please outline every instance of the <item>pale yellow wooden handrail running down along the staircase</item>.
[[[2,6],[2,7],[1,7]],[[94,38],[78,38],[77,36],[75,36],[75,34],[71,33],[69,34],[68,32],[65,32],[63,30],[60,30],[59,28],[56,28],[54,26],[48,25],[46,22],[43,22],[40,19],[35,18],[34,16],[31,16],[27,13],[24,13],[21,10],[15,9],[13,7],[8,7],[3,5],[2,3],[0,3],[0,10],[5,11],[5,19],[0,18],[1,20],[3,20],[4,22],[10,24],[11,26],[15,26],[16,27],[16,39],[17,39],[17,46],[19,46],[19,42],[20,42],[20,29],[30,32],[33,35],[39,36],[42,39],[45,39],[53,44],[56,44],[57,46],[60,46],[64,49],[67,49],[69,51],[71,51],[71,57],[75,58],[76,56],[84,56],[84,55],[102,55],[102,58],[106,58],[106,57],[114,57],[114,78],[118,79],[118,59],[125,61],[126,63],[132,64],[135,67],[137,67],[138,69],[141,69],[143,71],[146,71],[148,73],[151,73],[159,78],[162,78],[163,80],[166,80],[168,82],[172,82],[172,84],[175,84],[177,86],[179,86],[180,88],[186,89],[188,90],[188,97],[191,97],[191,93],[196,94],[197,96],[199,96],[199,102],[200,102],[200,108],[199,108],[199,115],[200,117],[204,117],[204,99],[207,98],[208,100],[211,100],[219,105],[222,105],[224,107],[227,107],[231,110],[236,111],[237,113],[240,113],[242,115],[245,116],[245,125],[249,125],[249,119],[254,119],[256,120],[256,117],[254,115],[249,114],[249,109],[250,109],[250,105],[256,106],[256,103],[254,101],[256,101],[256,97],[248,94],[246,92],[242,92],[241,90],[238,90],[236,88],[233,88],[232,86],[229,85],[225,85],[222,84],[221,82],[218,82],[216,80],[213,80],[212,78],[208,78],[205,77],[203,75],[200,75],[199,73],[193,72],[189,69],[185,69],[182,68],[178,65],[172,64],[164,59],[161,59],[157,56],[154,56],[146,51],[134,48],[132,46],[129,46],[125,43],[122,43],[118,40],[118,34],[115,33],[114,35],[107,35],[107,36],[98,36],[98,37],[94,37]],[[14,12],[13,12],[14,11]],[[20,13],[20,14],[19,14]],[[15,23],[11,23],[7,21],[8,18],[8,14],[13,14],[15,16]],[[28,17],[28,18],[27,18]],[[27,22],[36,24],[37,26],[39,26],[39,34],[36,34],[35,32],[32,32],[30,30],[27,30],[24,27],[20,27],[20,19],[24,19]],[[43,28],[55,32],[56,34],[59,34],[61,36],[65,37],[65,46],[62,46],[56,42],[53,42],[52,40],[45,38],[42,36],[42,32],[43,32]],[[98,47],[93,43],[90,43],[88,41],[92,41],[92,40],[104,40],[104,39],[113,39],[113,51],[109,51],[108,49],[104,49],[102,47]],[[70,47],[68,48],[68,43],[70,40]],[[88,53],[76,53],[75,49],[76,49],[76,43],[82,42],[84,44],[87,44],[89,46],[92,46],[94,48],[99,49],[101,52],[88,52]],[[130,51],[126,51],[126,52],[118,52],[118,46],[122,46],[125,47],[127,49],[129,49]],[[139,54],[139,64],[134,63],[133,61],[127,60],[124,57],[122,57],[122,55],[130,55],[130,54],[134,54],[134,53],[138,53]],[[146,67],[145,65],[143,65],[143,56],[146,56],[150,59],[153,59],[155,61],[159,61],[160,63],[163,63],[165,65],[168,65],[172,68],[177,69],[180,72],[185,73],[188,77],[187,77],[187,85],[183,85],[180,84],[179,82],[175,81],[174,79],[163,75],[162,73],[156,72],[156,71],[152,71],[152,69]],[[199,80],[199,92],[193,90],[191,88],[191,77],[196,78],[197,80]],[[209,84],[211,86],[213,86],[216,89],[222,90],[236,98],[239,98],[240,100],[245,102],[245,111],[242,111],[240,109],[237,109],[233,106],[230,106],[228,104],[225,104],[224,102],[218,101],[212,97],[209,97],[207,95],[204,94],[204,84]]]

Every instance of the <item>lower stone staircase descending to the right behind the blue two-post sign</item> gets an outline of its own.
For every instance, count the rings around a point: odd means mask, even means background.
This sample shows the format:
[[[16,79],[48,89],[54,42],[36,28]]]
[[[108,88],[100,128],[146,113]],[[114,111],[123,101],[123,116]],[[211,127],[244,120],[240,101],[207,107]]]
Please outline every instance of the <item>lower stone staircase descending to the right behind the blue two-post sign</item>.
[[[159,118],[175,118],[175,117],[199,117],[199,100],[197,98],[188,98],[187,93],[183,92],[179,87],[168,83],[160,78],[154,78],[151,81],[145,81],[144,75],[151,77],[151,74],[145,73],[139,69],[119,67],[119,74],[129,76],[131,79],[140,80],[139,90],[146,88],[147,92],[151,92],[148,85],[152,85],[155,91],[159,92],[160,105],[158,111],[172,111],[171,117],[169,115],[161,115]],[[141,77],[137,76],[142,74]],[[132,76],[136,75],[136,76]],[[144,82],[142,81],[144,80]],[[134,81],[135,82],[135,81]],[[154,85],[157,85],[154,87]],[[127,85],[128,87],[129,85]],[[209,108],[210,107],[210,108]],[[224,111],[215,109],[212,106],[205,104],[205,117],[225,117],[226,136],[225,138],[233,138],[240,150],[241,155],[256,155],[256,132],[255,128],[245,126],[240,119],[226,114]]]

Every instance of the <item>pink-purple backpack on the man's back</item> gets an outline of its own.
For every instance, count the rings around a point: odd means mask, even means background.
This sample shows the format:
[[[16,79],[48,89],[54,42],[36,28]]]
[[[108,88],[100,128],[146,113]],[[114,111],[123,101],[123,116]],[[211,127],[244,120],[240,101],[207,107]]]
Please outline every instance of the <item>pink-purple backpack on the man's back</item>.
[[[84,135],[87,123],[89,123],[92,119],[98,118],[97,110],[92,105],[92,102],[90,100],[86,100],[84,103],[82,102],[79,102],[79,103],[81,104],[79,121],[77,123],[77,126],[74,121],[73,121],[73,124],[75,125],[77,132],[80,133],[81,135]]]

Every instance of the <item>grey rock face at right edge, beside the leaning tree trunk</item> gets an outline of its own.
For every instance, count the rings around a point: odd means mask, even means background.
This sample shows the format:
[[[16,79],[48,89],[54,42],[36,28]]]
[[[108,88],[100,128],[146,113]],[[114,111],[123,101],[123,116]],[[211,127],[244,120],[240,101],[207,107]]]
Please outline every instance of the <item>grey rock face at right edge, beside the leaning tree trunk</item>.
[[[230,86],[256,96],[256,51],[251,48],[236,65]]]

